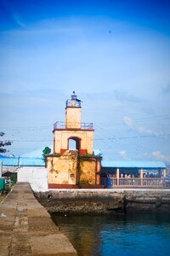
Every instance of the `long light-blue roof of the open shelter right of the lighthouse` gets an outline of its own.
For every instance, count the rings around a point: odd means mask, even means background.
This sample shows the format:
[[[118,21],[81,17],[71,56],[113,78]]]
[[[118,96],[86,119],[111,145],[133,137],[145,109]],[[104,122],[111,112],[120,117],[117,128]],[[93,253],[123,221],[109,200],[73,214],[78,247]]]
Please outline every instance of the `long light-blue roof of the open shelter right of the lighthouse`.
[[[161,161],[102,161],[102,167],[112,168],[145,168],[145,169],[164,169],[167,166]]]

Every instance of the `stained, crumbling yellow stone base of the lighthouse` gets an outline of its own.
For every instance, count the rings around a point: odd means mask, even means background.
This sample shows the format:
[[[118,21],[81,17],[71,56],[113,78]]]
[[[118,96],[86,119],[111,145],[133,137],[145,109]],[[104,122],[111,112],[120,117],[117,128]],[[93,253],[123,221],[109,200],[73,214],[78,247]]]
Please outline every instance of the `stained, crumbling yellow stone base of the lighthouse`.
[[[62,155],[52,154],[47,157],[49,188],[55,184],[65,188],[71,185],[99,185],[100,166],[101,157],[79,155],[77,150],[66,150]]]

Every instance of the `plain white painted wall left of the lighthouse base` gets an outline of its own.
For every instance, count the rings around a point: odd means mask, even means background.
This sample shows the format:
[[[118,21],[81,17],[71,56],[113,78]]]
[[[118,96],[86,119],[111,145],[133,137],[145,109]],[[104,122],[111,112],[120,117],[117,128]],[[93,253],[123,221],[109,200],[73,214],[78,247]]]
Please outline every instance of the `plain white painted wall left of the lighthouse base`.
[[[30,183],[33,191],[48,191],[48,169],[43,166],[22,166],[18,169],[17,181]]]

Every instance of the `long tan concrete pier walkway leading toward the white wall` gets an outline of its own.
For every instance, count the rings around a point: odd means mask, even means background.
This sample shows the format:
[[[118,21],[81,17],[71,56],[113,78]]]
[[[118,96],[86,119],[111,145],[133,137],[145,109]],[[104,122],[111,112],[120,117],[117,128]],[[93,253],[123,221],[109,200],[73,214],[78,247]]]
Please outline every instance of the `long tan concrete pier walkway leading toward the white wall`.
[[[17,183],[0,203],[0,254],[77,255],[28,183]]]

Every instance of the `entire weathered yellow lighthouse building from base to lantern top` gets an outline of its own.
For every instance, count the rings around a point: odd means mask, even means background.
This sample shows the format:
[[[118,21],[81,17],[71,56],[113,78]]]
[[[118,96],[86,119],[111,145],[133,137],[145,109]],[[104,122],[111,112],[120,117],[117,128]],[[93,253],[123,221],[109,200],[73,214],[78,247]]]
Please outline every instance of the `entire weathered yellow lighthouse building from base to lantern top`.
[[[66,101],[65,122],[54,124],[54,154],[46,161],[49,189],[99,185],[101,156],[94,155],[93,124],[82,123],[81,101],[74,91]]]

